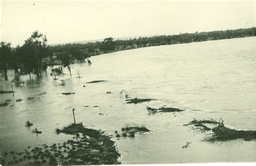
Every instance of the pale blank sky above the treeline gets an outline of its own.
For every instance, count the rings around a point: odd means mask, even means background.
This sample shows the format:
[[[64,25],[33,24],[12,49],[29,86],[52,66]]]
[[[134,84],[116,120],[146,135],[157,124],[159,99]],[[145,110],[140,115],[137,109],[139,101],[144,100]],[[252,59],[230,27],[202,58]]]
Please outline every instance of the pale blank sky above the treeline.
[[[22,45],[35,30],[48,44],[253,27],[255,1],[0,0],[0,39]]]

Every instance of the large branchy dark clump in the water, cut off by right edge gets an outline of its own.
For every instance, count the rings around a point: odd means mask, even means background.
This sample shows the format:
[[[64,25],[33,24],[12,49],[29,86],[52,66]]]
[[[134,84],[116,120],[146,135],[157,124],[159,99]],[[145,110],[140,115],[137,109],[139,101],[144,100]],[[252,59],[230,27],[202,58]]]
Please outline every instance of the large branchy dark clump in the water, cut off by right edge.
[[[206,125],[213,125],[214,127],[208,127]],[[199,132],[212,132],[210,137],[206,137],[206,141],[228,141],[236,139],[244,139],[245,141],[255,140],[256,131],[252,130],[235,130],[224,126],[222,119],[219,122],[210,120],[196,120],[194,119],[190,123],[183,126],[191,126],[192,129]]]

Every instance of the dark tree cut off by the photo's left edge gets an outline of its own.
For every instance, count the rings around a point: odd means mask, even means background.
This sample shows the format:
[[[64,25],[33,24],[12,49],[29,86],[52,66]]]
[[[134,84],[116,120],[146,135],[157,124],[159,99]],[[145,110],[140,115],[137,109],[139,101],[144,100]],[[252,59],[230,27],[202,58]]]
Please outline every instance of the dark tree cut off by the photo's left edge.
[[[11,44],[1,42],[0,45],[0,70],[4,74],[4,79],[8,80],[7,70],[11,54]]]

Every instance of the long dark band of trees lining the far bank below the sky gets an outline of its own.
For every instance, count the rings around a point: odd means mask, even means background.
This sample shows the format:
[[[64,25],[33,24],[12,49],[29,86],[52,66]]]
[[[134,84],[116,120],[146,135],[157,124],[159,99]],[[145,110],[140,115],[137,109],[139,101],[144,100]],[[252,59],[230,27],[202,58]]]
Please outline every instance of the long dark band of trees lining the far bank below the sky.
[[[57,46],[47,45],[47,38],[35,31],[25,40],[22,46],[11,47],[10,43],[1,42],[0,45],[0,71],[5,80],[8,79],[7,70],[12,69],[17,75],[36,74],[42,77],[42,72],[48,66],[59,65],[67,67],[71,73],[70,64],[84,62],[86,58],[102,53],[137,49],[140,47],[191,43],[196,41],[219,40],[255,36],[255,27],[248,29],[180,33],[176,35],[162,35],[153,37],[139,37],[127,40],[113,40],[86,44],[65,44]],[[63,71],[61,71],[63,72]],[[18,79],[18,77],[17,77]]]

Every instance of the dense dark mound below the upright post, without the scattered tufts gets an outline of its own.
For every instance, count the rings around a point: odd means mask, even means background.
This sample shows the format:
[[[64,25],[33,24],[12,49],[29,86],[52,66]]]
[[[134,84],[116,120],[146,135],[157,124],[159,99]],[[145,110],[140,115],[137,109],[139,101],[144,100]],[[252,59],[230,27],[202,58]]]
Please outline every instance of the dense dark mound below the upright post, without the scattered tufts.
[[[120,154],[117,152],[114,142],[100,130],[88,129],[82,123],[78,123],[64,127],[62,130],[57,129],[56,132],[72,135],[82,134],[80,141],[71,141],[74,148],[72,147],[68,152],[69,161],[64,161],[64,164],[119,163],[117,158]]]

